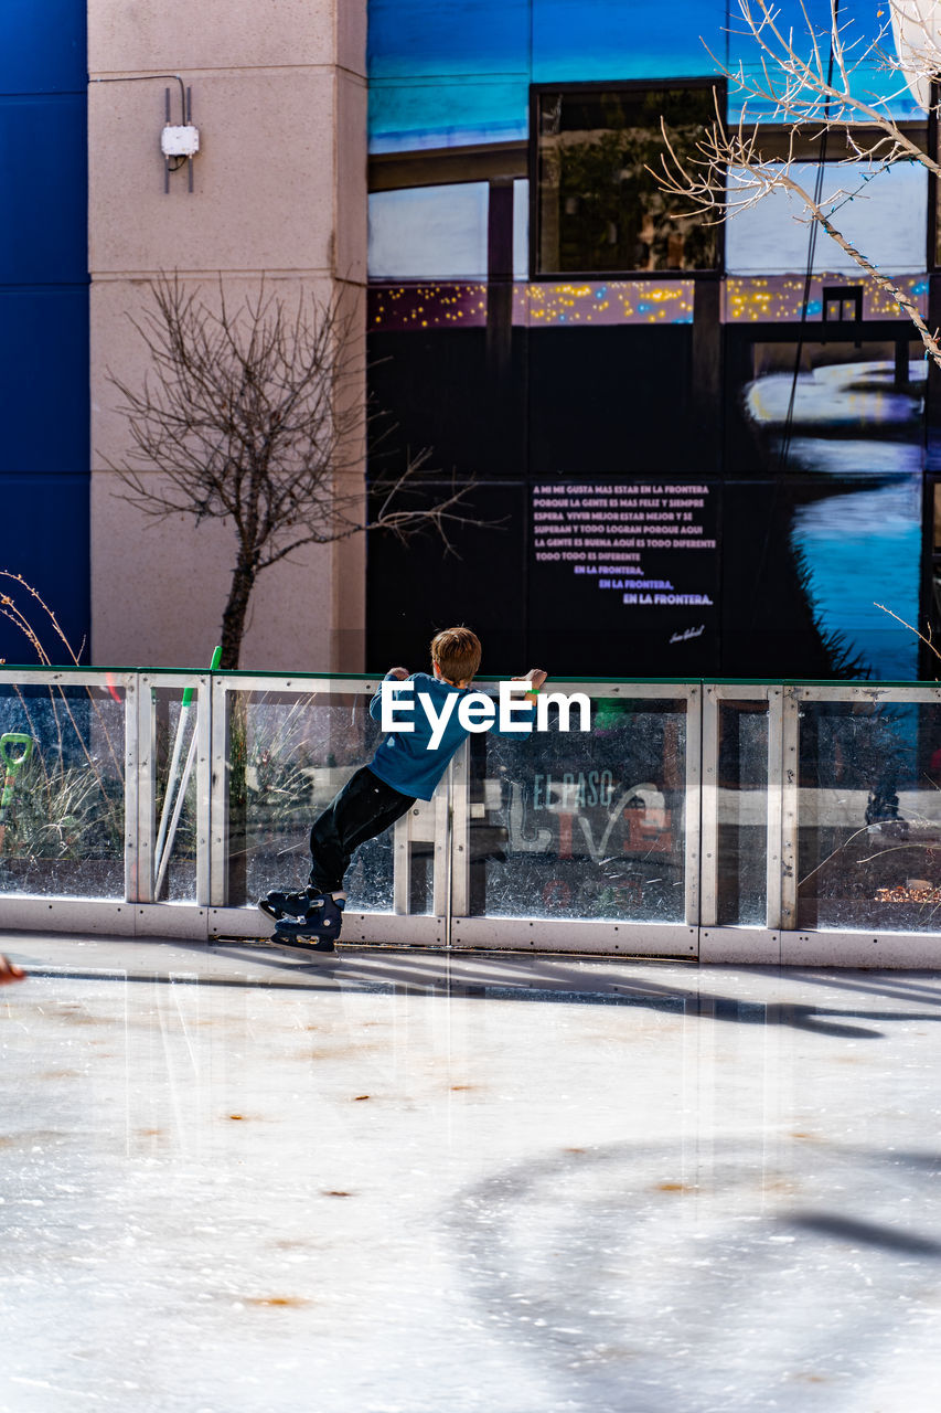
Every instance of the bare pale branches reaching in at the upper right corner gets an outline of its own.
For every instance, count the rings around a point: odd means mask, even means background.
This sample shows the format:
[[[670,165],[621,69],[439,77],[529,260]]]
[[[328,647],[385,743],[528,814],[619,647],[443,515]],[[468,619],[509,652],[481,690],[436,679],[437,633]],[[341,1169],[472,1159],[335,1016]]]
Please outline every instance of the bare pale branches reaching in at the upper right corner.
[[[927,328],[906,291],[876,268],[834,220],[845,202],[899,161],[921,162],[941,175],[934,155],[918,147],[892,114],[893,99],[904,89],[910,89],[925,113],[931,110],[931,85],[941,76],[941,10],[934,0],[884,0],[877,11],[883,23],[869,38],[859,34],[852,18],[841,18],[839,0],[829,4],[831,25],[821,30],[811,24],[801,0],[805,32],[795,38],[793,28],[781,23],[780,7],[769,0],[736,0],[736,25],[730,32],[750,41],[753,61],[740,59],[729,68],[708,44],[706,49],[742,95],[742,117],[738,126],[726,123],[716,97],[716,120],[692,153],[671,146],[664,127],[667,153],[656,175],[665,191],[684,201],[690,213],[711,222],[747,211],[774,191],[797,196],[803,206],[800,219],[815,222],[892,295],[941,366],[937,331]],[[886,92],[863,88],[870,82],[868,71],[873,65],[886,75]],[[756,120],[756,110],[764,116],[764,126]],[[769,120],[786,129],[783,150],[769,140]],[[836,185],[824,194],[822,185],[808,189],[795,167],[808,161],[808,144],[811,153],[817,148],[819,154],[821,138],[829,134],[836,134],[842,146],[834,165]],[[828,157],[832,153],[834,147]]]

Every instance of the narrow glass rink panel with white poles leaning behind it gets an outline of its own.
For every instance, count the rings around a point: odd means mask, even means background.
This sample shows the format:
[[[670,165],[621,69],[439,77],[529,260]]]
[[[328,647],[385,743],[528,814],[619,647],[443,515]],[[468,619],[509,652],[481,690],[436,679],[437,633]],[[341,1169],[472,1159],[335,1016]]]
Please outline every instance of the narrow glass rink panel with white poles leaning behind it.
[[[198,701],[185,711],[179,688],[153,690],[157,718],[154,900],[196,900],[196,736]],[[192,755],[191,755],[192,750]],[[182,801],[179,793],[182,790]]]

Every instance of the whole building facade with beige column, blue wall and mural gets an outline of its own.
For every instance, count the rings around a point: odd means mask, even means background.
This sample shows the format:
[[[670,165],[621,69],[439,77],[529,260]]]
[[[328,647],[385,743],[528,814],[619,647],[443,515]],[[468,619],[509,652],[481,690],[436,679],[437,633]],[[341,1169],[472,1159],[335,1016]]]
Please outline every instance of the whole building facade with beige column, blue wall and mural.
[[[924,674],[876,606],[937,616],[913,326],[787,202],[706,227],[649,171],[661,119],[680,141],[708,122],[702,41],[747,61],[728,27],[723,0],[10,0],[0,568],[85,661],[209,660],[232,531],[122,499],[110,377],[144,377],[131,321],[161,271],[230,302],[264,280],[360,309],[369,476],[427,449],[420,495],[462,487],[469,523],[456,552],[357,536],[266,571],[244,667],[417,664],[459,620],[495,673]],[[201,151],[168,171],[187,112]],[[934,141],[907,93],[893,113]],[[804,155],[841,185],[838,143]],[[934,206],[911,162],[839,209],[933,326]]]

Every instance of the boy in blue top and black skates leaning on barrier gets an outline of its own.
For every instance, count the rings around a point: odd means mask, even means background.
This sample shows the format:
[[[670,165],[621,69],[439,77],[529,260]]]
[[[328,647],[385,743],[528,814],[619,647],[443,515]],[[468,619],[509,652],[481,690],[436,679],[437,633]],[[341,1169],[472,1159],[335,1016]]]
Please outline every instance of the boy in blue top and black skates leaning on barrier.
[[[339,937],[346,903],[343,875],[353,852],[401,818],[415,800],[431,800],[448,762],[468,736],[458,721],[456,704],[452,704],[444,729],[438,732],[439,739],[430,746],[432,723],[418,706],[418,692],[431,698],[435,715],[442,721],[445,698],[466,692],[480,667],[478,636],[469,627],[437,633],[431,640],[431,667],[434,677],[415,673],[411,678],[415,684],[415,711],[410,718],[414,729],[384,736],[370,763],[346,781],[315,821],[308,887],[301,893],[273,892],[259,901],[261,911],[277,923],[276,941],[298,942],[312,952],[335,951],[333,940]],[[387,682],[407,680],[404,667],[386,673]],[[545,673],[533,668],[514,681],[530,682],[526,701],[535,702]],[[381,692],[370,701],[369,714],[377,719],[381,716]]]

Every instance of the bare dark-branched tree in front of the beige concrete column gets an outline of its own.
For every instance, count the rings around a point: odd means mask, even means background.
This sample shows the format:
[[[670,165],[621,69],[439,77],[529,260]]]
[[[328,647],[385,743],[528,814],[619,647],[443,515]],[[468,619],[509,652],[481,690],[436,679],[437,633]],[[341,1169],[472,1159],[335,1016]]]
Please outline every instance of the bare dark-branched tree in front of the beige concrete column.
[[[237,309],[219,283],[213,308],[174,276],[150,285],[131,324],[150,353],[143,384],[109,373],[130,424],[130,451],[107,462],[123,499],[146,516],[229,520],[236,557],[222,617],[222,666],[237,667],[251,591],[261,572],[308,544],[383,528],[434,528],[448,543],[463,489],[410,506],[415,473],[374,480],[363,514],[362,333],[339,298],[300,294],[292,305],[264,284]],[[427,499],[427,497],[422,497]]]

